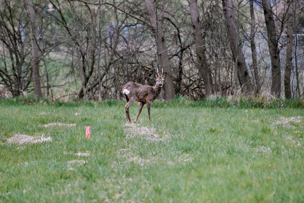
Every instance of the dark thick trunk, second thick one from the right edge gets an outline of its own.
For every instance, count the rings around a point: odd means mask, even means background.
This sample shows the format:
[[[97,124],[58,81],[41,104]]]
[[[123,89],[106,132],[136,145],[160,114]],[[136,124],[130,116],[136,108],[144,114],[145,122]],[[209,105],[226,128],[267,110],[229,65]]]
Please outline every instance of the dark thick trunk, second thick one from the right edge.
[[[270,0],[262,0],[265,24],[268,32],[268,48],[271,59],[271,94],[281,96],[280,50]]]

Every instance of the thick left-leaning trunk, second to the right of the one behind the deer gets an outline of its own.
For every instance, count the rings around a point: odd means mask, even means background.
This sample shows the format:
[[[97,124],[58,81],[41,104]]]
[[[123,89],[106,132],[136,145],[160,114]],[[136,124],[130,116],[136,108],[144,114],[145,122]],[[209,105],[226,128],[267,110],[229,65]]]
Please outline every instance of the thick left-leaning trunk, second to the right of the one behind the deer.
[[[241,90],[245,95],[251,95],[252,84],[250,81],[250,76],[247,70],[244,54],[240,46],[240,39],[236,37],[238,36],[238,29],[236,29],[238,26],[235,20],[232,0],[223,0],[223,12],[230,41],[230,48],[233,59],[237,66],[237,76],[240,82]]]

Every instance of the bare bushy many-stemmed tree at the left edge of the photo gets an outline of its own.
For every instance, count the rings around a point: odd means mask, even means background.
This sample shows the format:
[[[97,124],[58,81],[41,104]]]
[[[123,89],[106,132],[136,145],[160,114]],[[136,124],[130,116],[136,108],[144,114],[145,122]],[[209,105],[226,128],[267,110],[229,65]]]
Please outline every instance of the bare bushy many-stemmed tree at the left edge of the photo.
[[[29,52],[26,33],[28,16],[21,12],[22,2],[5,0],[1,4],[0,12],[0,85],[1,94],[6,91],[12,96],[20,96],[27,90],[32,81],[32,69],[28,68],[26,57]],[[16,28],[16,29],[11,29]],[[4,91],[6,90],[6,91]]]

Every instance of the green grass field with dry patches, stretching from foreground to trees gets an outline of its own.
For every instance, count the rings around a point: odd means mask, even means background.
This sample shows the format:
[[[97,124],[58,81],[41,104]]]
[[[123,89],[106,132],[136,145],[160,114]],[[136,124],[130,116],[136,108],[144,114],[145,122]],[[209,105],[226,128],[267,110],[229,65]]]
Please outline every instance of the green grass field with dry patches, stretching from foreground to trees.
[[[126,124],[124,101],[0,100],[0,202],[304,202],[304,105],[280,102],[155,101]]]

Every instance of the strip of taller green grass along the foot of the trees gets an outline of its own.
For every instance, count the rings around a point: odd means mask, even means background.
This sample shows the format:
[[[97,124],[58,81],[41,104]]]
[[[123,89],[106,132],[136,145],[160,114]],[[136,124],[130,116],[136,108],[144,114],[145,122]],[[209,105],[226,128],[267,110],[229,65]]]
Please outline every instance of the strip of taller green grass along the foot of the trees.
[[[0,103],[3,105],[20,105],[20,104],[52,104],[55,106],[66,106],[66,107],[78,107],[80,105],[85,105],[88,107],[94,106],[117,106],[124,103],[124,100],[116,99],[105,99],[101,101],[50,101],[44,98],[35,99],[34,97],[16,97],[12,99],[0,99]],[[155,100],[158,107],[216,107],[216,108],[228,108],[228,107],[239,107],[239,108],[304,108],[304,99],[290,99],[285,100],[281,98],[273,98],[267,95],[257,95],[252,97],[237,96],[237,97],[219,97],[219,98],[209,98],[206,100],[188,100],[184,96],[179,96],[171,101],[160,101]]]

